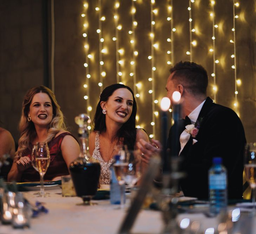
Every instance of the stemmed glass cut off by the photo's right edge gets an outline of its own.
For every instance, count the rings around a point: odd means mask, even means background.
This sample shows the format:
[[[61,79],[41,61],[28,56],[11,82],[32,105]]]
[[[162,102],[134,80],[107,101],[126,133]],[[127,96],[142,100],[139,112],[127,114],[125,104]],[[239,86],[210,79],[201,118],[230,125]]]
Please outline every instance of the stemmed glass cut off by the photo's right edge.
[[[252,213],[255,214],[256,192],[256,143],[247,143],[244,151],[244,171],[247,182],[251,187]]]

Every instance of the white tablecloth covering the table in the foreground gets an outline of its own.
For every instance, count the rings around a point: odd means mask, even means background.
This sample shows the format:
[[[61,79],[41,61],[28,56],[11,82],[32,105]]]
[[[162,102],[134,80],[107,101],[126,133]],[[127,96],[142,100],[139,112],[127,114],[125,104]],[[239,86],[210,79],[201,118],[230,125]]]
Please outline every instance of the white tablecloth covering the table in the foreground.
[[[31,219],[29,229],[13,229],[11,225],[0,224],[0,234],[114,234],[117,233],[125,215],[124,210],[115,209],[109,200],[96,201],[98,205],[78,206],[81,198],[62,197],[61,190],[47,190],[50,197],[38,198],[35,191],[24,192],[29,202],[45,202],[48,214],[40,213]],[[157,234],[163,228],[161,213],[141,210],[132,228],[134,234]]]

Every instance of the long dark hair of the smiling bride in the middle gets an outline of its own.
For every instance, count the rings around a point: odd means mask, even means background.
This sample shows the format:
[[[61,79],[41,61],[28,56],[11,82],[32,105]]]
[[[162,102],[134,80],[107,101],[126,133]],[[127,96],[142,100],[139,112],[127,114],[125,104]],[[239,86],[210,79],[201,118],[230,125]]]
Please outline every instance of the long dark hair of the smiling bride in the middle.
[[[106,131],[106,115],[102,113],[102,108],[100,106],[101,101],[107,101],[109,97],[119,88],[126,88],[128,89],[133,98],[133,105],[132,105],[132,113],[130,118],[122,125],[122,127],[117,132],[118,141],[122,138],[123,144],[127,145],[129,149],[134,149],[136,143],[136,113],[137,113],[137,103],[134,98],[133,91],[130,87],[122,84],[113,84],[107,86],[102,93],[100,94],[100,99],[96,108],[96,112],[93,119],[94,129],[93,131],[99,131],[99,133]]]

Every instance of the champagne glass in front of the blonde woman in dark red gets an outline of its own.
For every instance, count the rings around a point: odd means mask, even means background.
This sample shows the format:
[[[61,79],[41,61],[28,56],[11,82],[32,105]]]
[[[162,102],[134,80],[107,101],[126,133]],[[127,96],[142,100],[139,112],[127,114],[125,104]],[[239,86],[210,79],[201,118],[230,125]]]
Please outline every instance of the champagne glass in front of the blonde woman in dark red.
[[[32,148],[32,165],[40,174],[40,193],[39,196],[46,196],[44,187],[44,175],[50,164],[50,152],[46,142],[37,142]]]

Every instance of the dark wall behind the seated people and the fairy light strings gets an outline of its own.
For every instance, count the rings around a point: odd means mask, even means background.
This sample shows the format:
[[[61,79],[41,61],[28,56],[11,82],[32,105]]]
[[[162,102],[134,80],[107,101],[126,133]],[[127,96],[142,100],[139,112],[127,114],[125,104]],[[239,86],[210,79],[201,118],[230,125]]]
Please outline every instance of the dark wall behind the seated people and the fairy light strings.
[[[76,135],[77,126],[74,117],[87,111],[87,102],[84,95],[89,95],[92,111],[88,112],[93,117],[95,106],[98,102],[100,87],[99,79],[99,39],[96,29],[98,28],[98,13],[95,7],[98,1],[88,1],[88,40],[89,52],[94,55],[90,60],[89,68],[92,77],[87,79],[90,92],[83,87],[86,82],[85,62],[85,38],[84,18],[81,14],[85,9],[81,0],[54,0],[54,84],[55,95],[66,117],[70,131]],[[102,0],[102,14],[106,20],[102,22],[102,34],[105,39],[104,46],[108,52],[104,54],[104,78],[103,87],[116,82],[116,45],[112,41],[115,36],[113,21],[114,1]],[[155,41],[159,42],[159,49],[155,50],[155,95],[160,99],[165,95],[165,83],[169,75],[170,65],[166,64],[168,56],[166,51],[170,50],[170,43],[166,41],[170,37],[170,22],[168,17],[167,3],[170,1],[157,1],[154,8],[158,9],[155,15]],[[44,5],[46,4],[46,11]],[[45,5],[45,6],[46,6]],[[139,55],[136,59],[137,81],[142,82],[139,89],[140,98],[138,102],[138,124],[144,127],[148,134],[152,134],[152,94],[151,89],[151,60],[147,56],[151,54],[150,44],[150,1],[137,0],[135,2],[135,19],[138,22],[136,28],[136,49]],[[233,39],[233,1],[216,1],[215,13],[216,24],[216,59],[220,61],[216,65],[217,93],[216,102],[234,109],[235,101],[235,79],[234,59],[230,55],[234,53],[234,45],[229,42]],[[173,0],[173,26],[177,29],[174,33],[174,61],[189,60],[189,13],[188,1]],[[122,82],[133,87],[133,79],[129,76],[131,72],[130,61],[132,49],[130,45],[131,30],[131,1],[120,1],[119,23],[123,29],[119,32],[119,46],[125,48]],[[213,98],[213,71],[212,53],[212,22],[209,16],[211,7],[209,1],[195,0],[192,6],[193,27],[197,27],[197,33],[193,39],[197,40],[197,46],[193,47],[193,61],[203,65],[209,74],[208,95]],[[239,114],[248,141],[256,140],[256,79],[255,79],[255,0],[241,1],[236,8],[239,18],[236,20],[236,50],[237,50],[237,78],[241,79],[241,86],[237,87]],[[47,18],[44,18],[47,13]],[[48,55],[45,58],[45,41],[43,40],[44,22],[47,22],[48,32]],[[14,136],[15,141],[19,139],[18,122],[21,112],[21,103],[26,91],[34,86],[44,84],[45,69],[50,69],[51,63],[51,1],[35,0],[0,0],[0,119],[2,127],[8,129]],[[47,62],[47,64],[44,63]],[[47,67],[46,66],[46,67]],[[50,74],[50,73],[49,73]],[[51,76],[49,75],[49,80]],[[159,111],[158,104],[156,110]],[[171,114],[170,114],[171,117]],[[228,123],[227,123],[228,124]],[[160,119],[156,117],[156,138],[159,138]]]

